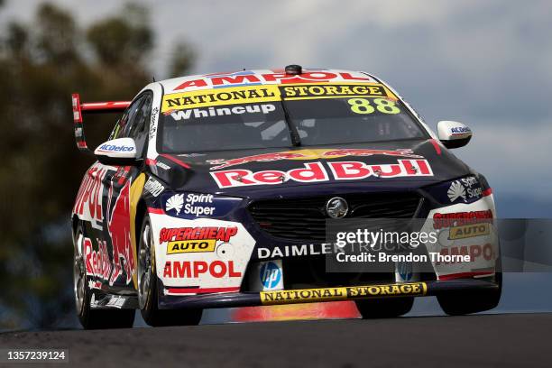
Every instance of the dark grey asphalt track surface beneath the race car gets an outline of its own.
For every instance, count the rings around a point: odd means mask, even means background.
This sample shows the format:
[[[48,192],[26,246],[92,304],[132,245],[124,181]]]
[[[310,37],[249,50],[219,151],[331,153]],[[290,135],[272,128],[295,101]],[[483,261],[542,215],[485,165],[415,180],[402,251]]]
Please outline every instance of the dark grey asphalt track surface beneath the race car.
[[[0,347],[69,349],[15,367],[550,367],[551,334],[552,314],[505,314],[10,332]]]

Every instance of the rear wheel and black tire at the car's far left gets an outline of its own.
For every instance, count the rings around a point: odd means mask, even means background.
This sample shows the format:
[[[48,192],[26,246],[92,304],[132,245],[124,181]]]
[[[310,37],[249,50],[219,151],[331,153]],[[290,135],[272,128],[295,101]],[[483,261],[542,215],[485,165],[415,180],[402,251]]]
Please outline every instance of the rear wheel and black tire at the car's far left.
[[[84,263],[84,239],[82,224],[79,224],[75,232],[74,259],[73,259],[73,286],[75,290],[75,307],[77,309],[78,321],[85,329],[98,328],[131,328],[134,324],[134,309],[92,309],[90,300],[92,290],[87,284],[87,270]],[[80,252],[78,251],[80,248]]]

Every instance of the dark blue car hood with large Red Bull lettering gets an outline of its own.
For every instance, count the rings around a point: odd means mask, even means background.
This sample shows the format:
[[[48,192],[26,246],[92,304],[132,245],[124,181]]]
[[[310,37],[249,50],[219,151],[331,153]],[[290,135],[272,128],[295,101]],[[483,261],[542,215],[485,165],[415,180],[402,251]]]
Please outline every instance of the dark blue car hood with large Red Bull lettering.
[[[170,189],[244,198],[418,189],[470,173],[431,139],[163,153],[157,162],[158,175]]]

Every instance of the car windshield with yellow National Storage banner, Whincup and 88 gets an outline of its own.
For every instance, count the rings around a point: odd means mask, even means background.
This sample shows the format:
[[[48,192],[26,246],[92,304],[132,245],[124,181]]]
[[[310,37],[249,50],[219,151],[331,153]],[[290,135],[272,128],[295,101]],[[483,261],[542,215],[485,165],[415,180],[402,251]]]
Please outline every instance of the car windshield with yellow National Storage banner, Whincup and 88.
[[[159,148],[170,153],[427,137],[400,100],[379,84],[232,87],[170,94],[163,98],[161,113]]]

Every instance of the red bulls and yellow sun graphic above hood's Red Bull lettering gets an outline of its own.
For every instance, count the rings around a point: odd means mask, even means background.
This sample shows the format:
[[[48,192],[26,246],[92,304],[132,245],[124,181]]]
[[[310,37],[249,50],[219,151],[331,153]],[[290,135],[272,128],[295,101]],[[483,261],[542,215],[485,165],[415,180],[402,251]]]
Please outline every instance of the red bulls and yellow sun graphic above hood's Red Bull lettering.
[[[373,155],[384,155],[393,157],[405,157],[410,159],[423,159],[423,156],[415,154],[410,149],[400,150],[371,150],[363,148],[340,148],[336,150],[296,150],[274,153],[262,153],[254,156],[246,156],[238,159],[218,159],[208,160],[211,165],[216,165],[211,170],[224,169],[231,166],[243,165],[249,162],[270,162],[281,160],[319,160],[319,159],[337,159],[346,156],[366,157]]]

